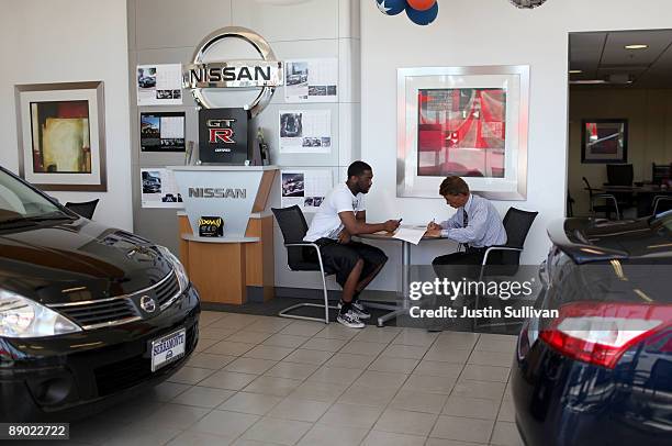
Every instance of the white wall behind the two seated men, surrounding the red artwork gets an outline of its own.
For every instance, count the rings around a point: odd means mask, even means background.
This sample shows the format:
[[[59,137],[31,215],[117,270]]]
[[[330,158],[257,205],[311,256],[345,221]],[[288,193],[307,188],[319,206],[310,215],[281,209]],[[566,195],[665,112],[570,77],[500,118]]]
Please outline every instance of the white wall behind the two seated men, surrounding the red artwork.
[[[667,29],[672,2],[550,0],[518,10],[505,0],[445,0],[439,8],[432,25],[417,26],[403,13],[385,16],[373,1],[361,2],[361,150],[376,177],[367,213],[410,223],[451,213],[440,199],[396,198],[396,68],[529,65],[527,201],[495,205],[502,214],[511,205],[539,211],[523,256],[524,263],[539,263],[549,246],[546,227],[564,212],[568,33]],[[449,247],[427,245],[423,253],[416,249],[413,261],[430,260]],[[385,268],[372,288],[388,288],[394,274]]]

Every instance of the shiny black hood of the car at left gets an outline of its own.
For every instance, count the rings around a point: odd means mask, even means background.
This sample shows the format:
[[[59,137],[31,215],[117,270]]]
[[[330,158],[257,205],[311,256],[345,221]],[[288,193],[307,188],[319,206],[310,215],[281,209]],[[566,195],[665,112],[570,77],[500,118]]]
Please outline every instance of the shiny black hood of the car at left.
[[[170,270],[150,242],[86,219],[0,232],[0,289],[42,303],[126,294]]]

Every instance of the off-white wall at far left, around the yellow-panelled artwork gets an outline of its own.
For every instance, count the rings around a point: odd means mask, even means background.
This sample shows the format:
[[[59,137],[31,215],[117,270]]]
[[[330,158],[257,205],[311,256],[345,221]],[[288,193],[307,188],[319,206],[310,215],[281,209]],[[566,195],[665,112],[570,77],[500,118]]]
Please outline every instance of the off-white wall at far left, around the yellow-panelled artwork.
[[[14,85],[104,82],[108,192],[48,192],[66,201],[100,198],[96,220],[133,228],[125,0],[0,0],[0,165],[16,172]]]

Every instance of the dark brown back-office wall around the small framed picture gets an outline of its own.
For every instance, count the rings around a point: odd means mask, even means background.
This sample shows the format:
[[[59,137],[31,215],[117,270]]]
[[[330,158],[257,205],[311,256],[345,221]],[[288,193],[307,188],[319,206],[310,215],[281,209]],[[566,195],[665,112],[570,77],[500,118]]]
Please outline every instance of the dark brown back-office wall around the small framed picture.
[[[598,118],[628,120],[628,163],[635,181],[651,179],[651,163],[672,163],[672,90],[602,89],[570,92],[569,189],[575,215],[587,215],[592,187],[606,182],[606,164],[581,163],[581,121]]]

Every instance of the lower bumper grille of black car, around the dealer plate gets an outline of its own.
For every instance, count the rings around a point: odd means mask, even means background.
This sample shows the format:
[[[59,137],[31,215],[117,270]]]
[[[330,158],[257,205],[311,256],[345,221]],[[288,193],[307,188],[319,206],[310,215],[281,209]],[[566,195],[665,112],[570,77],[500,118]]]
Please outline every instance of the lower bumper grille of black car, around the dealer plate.
[[[198,324],[187,328],[187,345],[184,356],[189,355],[195,347]],[[169,332],[168,332],[169,333]],[[105,397],[123,389],[128,389],[150,379],[153,376],[166,373],[178,367],[182,360],[176,360],[157,371],[152,371],[152,359],[144,355],[137,355],[123,361],[109,364],[93,370],[98,395]]]

